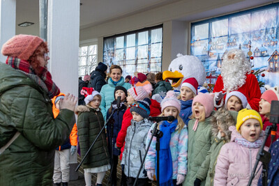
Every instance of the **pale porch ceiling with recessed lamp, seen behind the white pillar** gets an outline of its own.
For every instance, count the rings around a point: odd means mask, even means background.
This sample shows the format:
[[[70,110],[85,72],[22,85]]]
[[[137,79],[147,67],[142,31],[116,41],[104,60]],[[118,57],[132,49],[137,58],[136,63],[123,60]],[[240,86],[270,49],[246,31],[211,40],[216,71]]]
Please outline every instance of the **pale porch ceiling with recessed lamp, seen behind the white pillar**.
[[[110,22],[175,1],[180,0],[80,0],[80,28]],[[22,22],[34,24],[25,28],[17,26],[16,34],[39,35],[39,8],[38,0],[17,0],[16,25]]]

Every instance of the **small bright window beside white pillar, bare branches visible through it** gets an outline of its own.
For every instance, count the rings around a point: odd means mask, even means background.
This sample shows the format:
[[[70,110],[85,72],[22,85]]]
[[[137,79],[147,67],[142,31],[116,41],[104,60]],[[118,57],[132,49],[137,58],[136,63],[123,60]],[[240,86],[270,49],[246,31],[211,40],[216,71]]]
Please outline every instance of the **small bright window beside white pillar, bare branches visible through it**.
[[[97,45],[80,47],[79,77],[89,75],[95,70],[97,64]]]

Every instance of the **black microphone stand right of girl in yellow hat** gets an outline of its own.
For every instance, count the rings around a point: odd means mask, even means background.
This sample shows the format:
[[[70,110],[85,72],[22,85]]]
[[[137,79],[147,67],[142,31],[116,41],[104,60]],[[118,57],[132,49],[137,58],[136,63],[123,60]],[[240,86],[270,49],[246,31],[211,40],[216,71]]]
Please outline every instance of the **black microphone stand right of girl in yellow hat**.
[[[257,165],[259,164],[259,161],[262,162],[262,185],[265,186],[267,185],[267,175],[268,175],[268,169],[269,169],[269,162],[271,160],[271,154],[269,152],[267,152],[266,150],[264,150],[264,144],[266,144],[266,139],[269,137],[269,134],[271,133],[271,129],[273,129],[273,125],[271,126],[267,126],[266,130],[264,132],[264,141],[262,143],[261,148],[259,148],[259,152],[257,153],[257,157],[256,157],[256,163],[255,166],[252,170],[249,182],[248,182],[248,186],[250,186],[252,184],[252,180],[255,178],[256,176],[256,170],[257,170]],[[276,129],[275,129],[276,131]],[[271,141],[272,143],[272,141]]]

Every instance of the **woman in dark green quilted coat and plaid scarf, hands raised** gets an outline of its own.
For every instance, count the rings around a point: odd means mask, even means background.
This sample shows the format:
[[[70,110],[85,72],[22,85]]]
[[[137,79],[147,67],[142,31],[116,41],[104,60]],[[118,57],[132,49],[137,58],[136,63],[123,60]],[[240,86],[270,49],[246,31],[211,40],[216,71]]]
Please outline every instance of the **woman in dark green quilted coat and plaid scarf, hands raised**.
[[[55,148],[75,124],[77,98],[66,95],[54,119],[50,99],[59,88],[41,38],[14,36],[1,52],[8,59],[0,62],[0,185],[52,185]]]

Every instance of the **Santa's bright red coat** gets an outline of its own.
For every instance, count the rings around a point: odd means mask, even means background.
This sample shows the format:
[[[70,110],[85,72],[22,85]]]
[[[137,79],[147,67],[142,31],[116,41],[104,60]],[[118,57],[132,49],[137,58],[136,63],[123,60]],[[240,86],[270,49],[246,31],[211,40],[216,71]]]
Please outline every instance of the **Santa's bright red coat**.
[[[224,91],[223,88],[223,77],[220,75],[214,86],[213,93],[220,91],[223,91],[223,93],[225,93],[226,91]],[[250,104],[250,107],[256,111],[259,111],[261,91],[259,89],[259,82],[257,82],[257,77],[255,77],[255,75],[246,75],[246,83],[243,84],[243,86],[238,88],[236,91],[243,93],[243,95],[246,96],[248,104]],[[224,100],[225,99],[226,98],[224,97]]]

